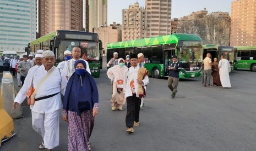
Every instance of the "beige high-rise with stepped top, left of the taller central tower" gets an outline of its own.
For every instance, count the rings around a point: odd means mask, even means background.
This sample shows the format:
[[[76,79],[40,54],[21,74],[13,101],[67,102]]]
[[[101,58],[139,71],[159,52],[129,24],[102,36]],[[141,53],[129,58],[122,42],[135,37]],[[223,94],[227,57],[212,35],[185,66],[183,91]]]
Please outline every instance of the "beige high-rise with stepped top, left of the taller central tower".
[[[146,38],[146,9],[139,7],[139,3],[129,5],[123,9],[122,40]]]

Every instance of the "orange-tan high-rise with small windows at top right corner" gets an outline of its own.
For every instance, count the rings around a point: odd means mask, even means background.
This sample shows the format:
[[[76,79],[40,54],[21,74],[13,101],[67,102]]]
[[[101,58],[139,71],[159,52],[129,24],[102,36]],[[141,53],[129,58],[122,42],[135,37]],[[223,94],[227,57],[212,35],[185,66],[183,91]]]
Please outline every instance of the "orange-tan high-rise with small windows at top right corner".
[[[231,2],[231,46],[256,45],[256,1]]]

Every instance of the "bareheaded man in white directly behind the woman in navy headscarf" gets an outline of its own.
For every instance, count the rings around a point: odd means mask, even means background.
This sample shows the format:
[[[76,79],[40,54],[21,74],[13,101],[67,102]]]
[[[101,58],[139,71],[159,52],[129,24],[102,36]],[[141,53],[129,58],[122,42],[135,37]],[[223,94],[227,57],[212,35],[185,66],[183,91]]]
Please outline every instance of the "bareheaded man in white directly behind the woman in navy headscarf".
[[[71,77],[71,75],[75,72],[75,67],[74,67],[75,61],[80,59],[81,49],[79,47],[74,47],[72,49],[72,56],[73,56],[73,58],[68,60],[64,65],[64,73],[65,73],[67,79],[69,79]],[[85,61],[85,63],[86,63],[86,71],[91,74],[88,62]]]

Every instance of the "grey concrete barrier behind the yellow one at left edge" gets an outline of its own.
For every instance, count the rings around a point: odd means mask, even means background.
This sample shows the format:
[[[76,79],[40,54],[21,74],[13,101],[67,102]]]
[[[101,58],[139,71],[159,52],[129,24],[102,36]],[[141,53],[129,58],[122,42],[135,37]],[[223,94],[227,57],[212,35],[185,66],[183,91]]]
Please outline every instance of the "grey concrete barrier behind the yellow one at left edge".
[[[2,103],[3,108],[13,119],[22,118],[22,107],[18,106],[12,110],[13,101],[15,98],[15,88],[13,77],[10,72],[3,72],[2,78]]]

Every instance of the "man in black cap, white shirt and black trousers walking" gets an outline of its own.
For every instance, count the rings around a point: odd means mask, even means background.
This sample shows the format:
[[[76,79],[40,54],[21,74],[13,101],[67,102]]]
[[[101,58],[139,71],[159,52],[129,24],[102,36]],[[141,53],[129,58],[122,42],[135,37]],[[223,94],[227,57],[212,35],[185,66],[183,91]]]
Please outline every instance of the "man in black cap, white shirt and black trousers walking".
[[[130,63],[132,67],[129,67],[124,71],[123,91],[127,102],[127,114],[126,114],[126,127],[127,132],[134,132],[133,125],[139,126],[139,111],[141,98],[139,98],[138,85],[145,86],[149,83],[148,75],[143,80],[138,80],[138,56],[135,54],[130,55]]]

